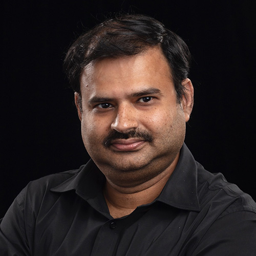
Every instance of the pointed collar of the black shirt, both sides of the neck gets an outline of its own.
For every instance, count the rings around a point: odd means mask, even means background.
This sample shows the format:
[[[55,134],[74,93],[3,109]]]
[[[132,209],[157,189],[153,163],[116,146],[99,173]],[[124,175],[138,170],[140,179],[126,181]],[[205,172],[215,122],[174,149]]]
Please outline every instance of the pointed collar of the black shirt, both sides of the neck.
[[[62,193],[76,190],[84,200],[91,200],[99,193],[102,194],[104,182],[104,175],[91,159],[86,165],[81,166],[72,178],[52,188],[51,191]],[[155,201],[176,208],[200,211],[197,194],[197,164],[185,144],[181,148],[179,162],[172,176]]]

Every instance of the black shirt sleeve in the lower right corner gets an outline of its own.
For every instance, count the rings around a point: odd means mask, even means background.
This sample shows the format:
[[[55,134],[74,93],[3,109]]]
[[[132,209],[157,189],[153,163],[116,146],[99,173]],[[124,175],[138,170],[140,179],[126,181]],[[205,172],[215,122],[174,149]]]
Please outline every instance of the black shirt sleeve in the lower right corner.
[[[217,220],[191,256],[255,256],[256,214],[239,211]]]

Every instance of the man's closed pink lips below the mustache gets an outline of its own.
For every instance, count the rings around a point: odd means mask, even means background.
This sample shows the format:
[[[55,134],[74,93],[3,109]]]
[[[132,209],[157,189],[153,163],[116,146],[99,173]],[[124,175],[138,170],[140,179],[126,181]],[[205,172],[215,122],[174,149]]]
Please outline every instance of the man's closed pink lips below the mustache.
[[[111,146],[117,151],[136,151],[145,143],[141,139],[118,139],[111,143]]]

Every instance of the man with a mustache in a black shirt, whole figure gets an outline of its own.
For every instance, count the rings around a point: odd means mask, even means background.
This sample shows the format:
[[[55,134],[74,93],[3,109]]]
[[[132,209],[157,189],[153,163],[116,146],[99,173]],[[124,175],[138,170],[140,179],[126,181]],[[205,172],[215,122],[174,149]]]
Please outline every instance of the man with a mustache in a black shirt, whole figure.
[[[193,86],[179,36],[142,15],[107,20],[65,70],[92,159],[22,190],[3,255],[255,255],[256,204],[184,144]]]

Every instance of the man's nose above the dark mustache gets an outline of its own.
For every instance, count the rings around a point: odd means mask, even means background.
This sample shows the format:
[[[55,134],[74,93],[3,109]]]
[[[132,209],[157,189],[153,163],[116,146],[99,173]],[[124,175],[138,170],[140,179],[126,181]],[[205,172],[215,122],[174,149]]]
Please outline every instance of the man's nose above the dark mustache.
[[[127,133],[138,127],[138,117],[133,106],[119,106],[115,119],[111,124],[111,129],[119,133]]]

